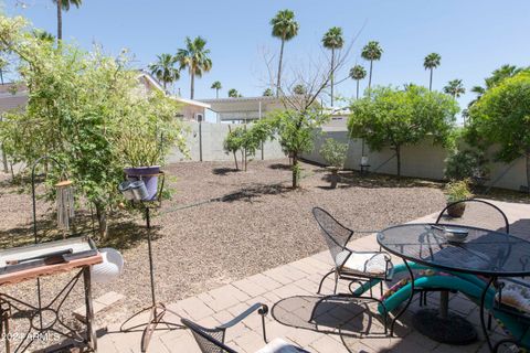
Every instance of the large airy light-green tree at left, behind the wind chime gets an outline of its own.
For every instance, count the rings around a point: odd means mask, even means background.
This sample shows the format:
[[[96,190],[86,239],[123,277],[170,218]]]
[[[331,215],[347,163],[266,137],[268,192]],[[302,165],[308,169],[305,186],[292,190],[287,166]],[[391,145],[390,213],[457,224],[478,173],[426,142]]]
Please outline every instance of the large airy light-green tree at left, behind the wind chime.
[[[68,44],[55,50],[26,29],[21,18],[0,17],[0,43],[20,61],[19,75],[30,88],[26,109],[6,115],[0,140],[26,165],[43,154],[61,161],[80,196],[95,205],[105,236],[108,211],[121,200],[116,185],[130,146],[124,143],[132,136],[145,148],[163,132],[159,161],[174,143],[183,148],[179,107],[160,92],[139,94],[127,57]]]

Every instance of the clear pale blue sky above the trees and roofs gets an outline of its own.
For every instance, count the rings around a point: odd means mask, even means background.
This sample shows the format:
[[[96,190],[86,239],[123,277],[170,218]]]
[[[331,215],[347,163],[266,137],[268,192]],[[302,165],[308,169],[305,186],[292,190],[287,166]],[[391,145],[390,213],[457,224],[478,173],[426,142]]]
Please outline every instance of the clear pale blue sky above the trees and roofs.
[[[1,1],[1,0],[0,0]],[[21,14],[36,26],[56,33],[56,11],[52,0],[4,0],[3,11]],[[222,83],[221,97],[230,88],[243,96],[259,96],[268,81],[265,57],[276,67],[279,40],[271,35],[269,20],[278,10],[295,12],[300,29],[286,43],[285,71],[310,67],[322,62],[322,34],[341,26],[351,50],[337,77],[346,77],[371,40],[383,47],[374,63],[372,85],[415,83],[428,86],[425,55],[442,55],[434,72],[433,88],[439,89],[462,78],[467,90],[502,64],[530,65],[529,0],[83,0],[63,15],[63,38],[85,49],[94,43],[117,55],[126,47],[134,54],[132,65],[145,68],[157,54],[174,54],[186,36],[201,35],[208,41],[213,67],[195,81],[195,98],[214,98],[210,88]],[[274,57],[273,57],[274,56]],[[361,82],[365,88],[368,79]],[[346,79],[336,93],[350,98],[356,84]],[[189,97],[189,75],[182,72],[174,90]],[[459,98],[462,108],[474,98],[467,92]]]

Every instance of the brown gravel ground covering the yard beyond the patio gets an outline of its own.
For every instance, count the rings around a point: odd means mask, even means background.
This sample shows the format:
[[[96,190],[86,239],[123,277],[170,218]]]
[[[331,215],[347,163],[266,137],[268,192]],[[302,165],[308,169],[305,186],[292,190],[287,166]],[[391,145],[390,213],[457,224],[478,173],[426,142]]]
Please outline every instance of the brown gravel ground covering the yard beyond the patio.
[[[326,249],[310,214],[316,205],[354,229],[379,229],[433,213],[445,203],[439,184],[361,179],[352,172],[344,172],[339,188],[330,190],[325,170],[310,164],[304,164],[303,188],[292,191],[287,162],[255,161],[247,172],[233,171],[230,162],[183,162],[166,169],[174,194],[152,220],[158,300],[173,302]],[[15,193],[6,180],[0,173],[0,242],[9,246],[14,236],[31,233],[31,197]],[[234,192],[223,201],[182,208]],[[39,210],[42,214],[46,206]],[[113,284],[95,285],[94,296],[113,290],[127,300],[99,318],[106,323],[123,321],[149,303],[150,296],[144,221],[123,217],[113,222],[110,232],[107,244],[123,252],[125,271]],[[65,276],[44,280],[44,292],[64,281]],[[6,290],[28,298],[33,286]],[[81,298],[76,290],[66,306],[78,307]]]

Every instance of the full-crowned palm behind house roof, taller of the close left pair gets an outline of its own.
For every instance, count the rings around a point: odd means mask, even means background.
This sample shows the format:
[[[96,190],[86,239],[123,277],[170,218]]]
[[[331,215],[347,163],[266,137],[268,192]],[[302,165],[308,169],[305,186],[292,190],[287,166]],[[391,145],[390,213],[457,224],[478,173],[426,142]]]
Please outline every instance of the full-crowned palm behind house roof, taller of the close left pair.
[[[206,41],[198,36],[193,41],[186,38],[186,49],[179,49],[177,60],[180,62],[180,68],[188,67],[191,77],[190,98],[193,99],[195,92],[195,76],[202,77],[212,68],[212,60],[209,57],[210,50],[205,49]]]

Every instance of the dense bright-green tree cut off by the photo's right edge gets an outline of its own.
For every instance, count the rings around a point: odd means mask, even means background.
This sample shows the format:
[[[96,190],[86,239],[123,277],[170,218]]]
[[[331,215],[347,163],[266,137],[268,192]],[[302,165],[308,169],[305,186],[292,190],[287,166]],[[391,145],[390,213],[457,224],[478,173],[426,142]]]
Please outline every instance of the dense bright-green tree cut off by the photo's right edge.
[[[504,78],[469,108],[467,140],[483,150],[498,146],[495,158],[526,159],[530,188],[530,69]],[[530,189],[529,189],[530,190]]]

